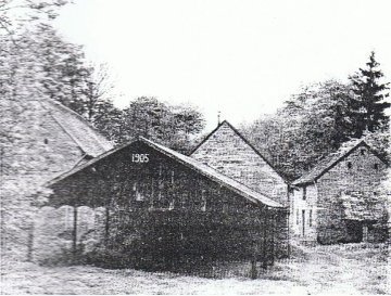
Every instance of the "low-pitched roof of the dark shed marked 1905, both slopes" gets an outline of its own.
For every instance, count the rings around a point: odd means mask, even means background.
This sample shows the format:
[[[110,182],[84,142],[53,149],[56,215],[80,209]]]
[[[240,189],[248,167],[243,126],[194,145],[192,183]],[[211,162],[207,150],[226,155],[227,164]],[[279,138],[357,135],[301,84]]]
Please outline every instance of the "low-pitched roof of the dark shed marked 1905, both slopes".
[[[172,159],[175,159],[176,162],[179,162],[180,164],[187,166],[188,168],[201,173],[202,176],[209,178],[210,180],[212,181],[215,181],[217,183],[219,183],[220,185],[229,189],[230,191],[239,194],[240,196],[243,196],[245,197],[247,200],[255,203],[255,204],[263,204],[263,205],[266,205],[268,207],[283,207],[281,204],[270,200],[269,197],[261,194],[261,193],[257,193],[253,190],[251,190],[250,188],[235,181],[234,179],[218,172],[217,170],[211,168],[210,166],[207,165],[204,165],[189,156],[186,156],[184,154],[180,154],[176,151],[173,151],[168,147],[165,147],[163,145],[160,145],[157,143],[154,143],[150,140],[147,140],[142,137],[139,138],[139,140],[136,140],[136,141],[133,141],[128,144],[125,144],[125,145],[122,145],[117,149],[113,149],[106,153],[103,153],[102,155],[87,162],[86,164],[81,165],[81,166],[78,166],[78,167],[75,167],[73,168],[72,170],[54,178],[52,181],[50,181],[47,185],[48,186],[52,186],[54,185],[55,183],[60,182],[61,180],[64,180],[66,179],[67,177],[71,177],[73,176],[74,173],[78,172],[78,171],[81,171],[83,169],[87,168],[87,167],[90,167],[94,164],[97,164],[99,160],[114,154],[115,152],[119,151],[119,150],[123,150],[127,146],[129,146],[130,144],[137,142],[137,141],[140,141],[144,144],[147,144],[148,146],[161,152],[162,154],[166,155],[167,157],[172,158]]]

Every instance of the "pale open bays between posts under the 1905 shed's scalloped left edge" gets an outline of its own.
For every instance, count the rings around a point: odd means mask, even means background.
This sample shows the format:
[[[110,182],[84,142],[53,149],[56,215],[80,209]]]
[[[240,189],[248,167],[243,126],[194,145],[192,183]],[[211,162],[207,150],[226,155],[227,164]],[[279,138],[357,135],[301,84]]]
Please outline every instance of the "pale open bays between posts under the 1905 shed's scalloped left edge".
[[[77,246],[81,254],[91,252],[104,237],[104,208],[77,208]],[[30,259],[56,265],[72,262],[74,208],[42,207],[38,210],[31,233]],[[81,249],[80,249],[81,248]]]

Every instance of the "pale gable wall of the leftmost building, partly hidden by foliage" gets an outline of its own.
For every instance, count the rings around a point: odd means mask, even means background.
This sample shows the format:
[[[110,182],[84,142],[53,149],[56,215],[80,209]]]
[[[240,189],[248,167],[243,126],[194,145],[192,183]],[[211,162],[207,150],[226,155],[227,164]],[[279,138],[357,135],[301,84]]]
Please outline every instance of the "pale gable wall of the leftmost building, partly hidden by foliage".
[[[13,104],[17,103],[17,106]],[[27,258],[34,202],[29,197],[56,175],[71,169],[81,151],[47,113],[38,100],[10,102],[2,126],[9,139],[1,142],[1,255]]]

